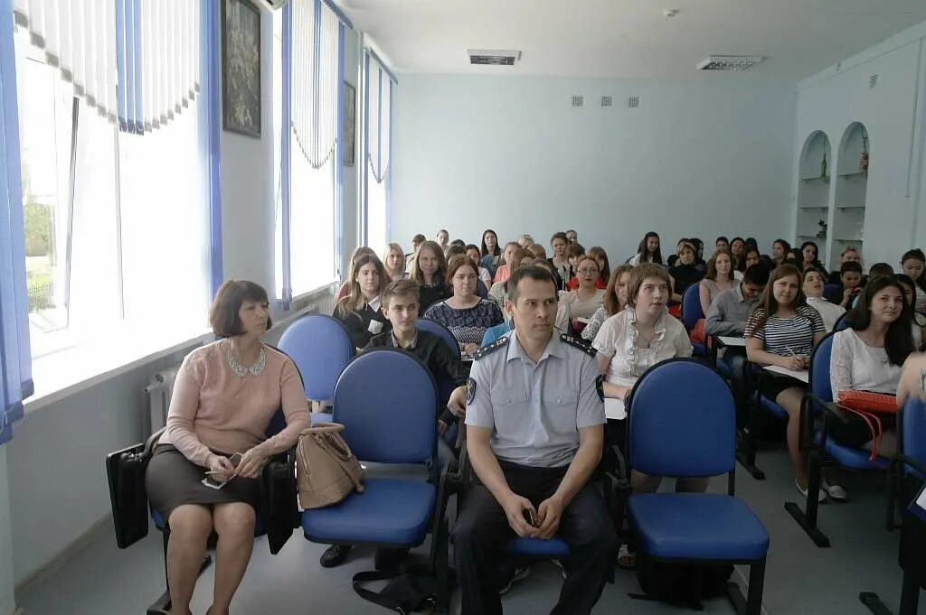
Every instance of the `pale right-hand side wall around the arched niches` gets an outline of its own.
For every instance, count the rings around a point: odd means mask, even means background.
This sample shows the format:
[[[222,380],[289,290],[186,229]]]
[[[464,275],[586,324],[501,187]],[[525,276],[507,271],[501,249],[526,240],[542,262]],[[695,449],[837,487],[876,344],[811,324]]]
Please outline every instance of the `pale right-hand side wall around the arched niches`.
[[[830,168],[835,169],[849,125],[861,122],[868,129],[866,264],[884,261],[897,267],[903,252],[926,240],[926,185],[922,184],[926,180],[926,133],[922,121],[926,104],[924,38],[926,22],[798,84],[795,155],[811,132],[822,130],[832,143],[837,159],[832,160]],[[870,89],[873,74],[878,75],[878,82]]]

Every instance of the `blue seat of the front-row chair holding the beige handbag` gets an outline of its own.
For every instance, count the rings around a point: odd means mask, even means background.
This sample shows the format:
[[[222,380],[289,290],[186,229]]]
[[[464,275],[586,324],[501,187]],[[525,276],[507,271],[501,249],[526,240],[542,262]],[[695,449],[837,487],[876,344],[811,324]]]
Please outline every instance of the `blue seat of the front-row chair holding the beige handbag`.
[[[368,478],[363,492],[323,509],[302,513],[309,540],[415,547],[432,522],[437,489],[400,478]]]

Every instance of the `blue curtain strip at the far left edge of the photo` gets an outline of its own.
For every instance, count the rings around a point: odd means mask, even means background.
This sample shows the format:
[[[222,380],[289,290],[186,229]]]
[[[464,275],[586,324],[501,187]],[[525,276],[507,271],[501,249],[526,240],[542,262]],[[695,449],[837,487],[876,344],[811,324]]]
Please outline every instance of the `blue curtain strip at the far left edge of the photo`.
[[[32,394],[13,7],[0,0],[0,444]]]

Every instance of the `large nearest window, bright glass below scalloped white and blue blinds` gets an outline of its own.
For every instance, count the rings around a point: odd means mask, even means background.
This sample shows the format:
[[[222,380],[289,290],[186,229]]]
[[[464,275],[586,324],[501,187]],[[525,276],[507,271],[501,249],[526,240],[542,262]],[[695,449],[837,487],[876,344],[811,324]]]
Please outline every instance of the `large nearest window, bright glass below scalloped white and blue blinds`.
[[[198,9],[190,10],[198,18]],[[32,358],[130,332],[161,346],[194,337],[206,326],[210,299],[204,96],[184,101],[185,108],[164,97],[158,102],[169,105],[169,119],[161,114],[153,129],[122,131],[107,101],[64,80],[63,68],[30,36],[20,24]],[[180,53],[171,59],[181,66]],[[115,100],[115,81],[95,85]]]

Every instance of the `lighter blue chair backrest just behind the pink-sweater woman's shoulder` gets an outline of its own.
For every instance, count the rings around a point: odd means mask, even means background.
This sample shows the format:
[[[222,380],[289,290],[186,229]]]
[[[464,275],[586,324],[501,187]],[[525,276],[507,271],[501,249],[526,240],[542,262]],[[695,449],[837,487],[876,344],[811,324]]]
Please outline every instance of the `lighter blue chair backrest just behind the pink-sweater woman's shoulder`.
[[[300,318],[286,327],[279,346],[299,369],[309,400],[332,399],[334,383],[356,352],[344,325],[320,314]]]

